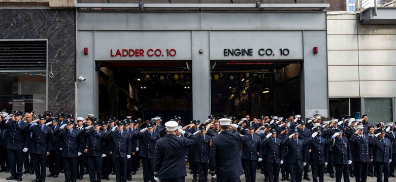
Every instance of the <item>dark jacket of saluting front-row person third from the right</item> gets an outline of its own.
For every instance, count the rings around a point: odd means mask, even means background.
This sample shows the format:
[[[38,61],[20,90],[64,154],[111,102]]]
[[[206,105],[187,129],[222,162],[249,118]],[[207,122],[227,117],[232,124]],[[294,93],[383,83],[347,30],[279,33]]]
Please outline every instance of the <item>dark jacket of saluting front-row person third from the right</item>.
[[[327,145],[333,146],[333,158],[335,164],[348,164],[348,160],[352,160],[352,153],[349,146],[348,139],[344,136],[342,137],[342,142],[340,138],[333,137],[327,139]]]

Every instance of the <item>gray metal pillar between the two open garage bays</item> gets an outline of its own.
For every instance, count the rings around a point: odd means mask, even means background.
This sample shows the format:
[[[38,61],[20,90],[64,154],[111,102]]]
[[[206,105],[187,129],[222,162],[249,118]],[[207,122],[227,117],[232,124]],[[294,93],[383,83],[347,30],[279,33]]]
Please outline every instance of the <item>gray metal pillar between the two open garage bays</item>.
[[[192,31],[192,42],[192,118],[205,121],[211,113],[209,31]]]

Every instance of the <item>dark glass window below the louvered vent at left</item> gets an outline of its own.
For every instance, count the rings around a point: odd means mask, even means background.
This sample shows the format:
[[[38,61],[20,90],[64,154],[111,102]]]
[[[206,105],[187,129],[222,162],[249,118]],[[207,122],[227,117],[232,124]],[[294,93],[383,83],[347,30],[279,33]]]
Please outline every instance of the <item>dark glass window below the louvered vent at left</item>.
[[[0,109],[44,113],[47,109],[46,72],[1,72]]]

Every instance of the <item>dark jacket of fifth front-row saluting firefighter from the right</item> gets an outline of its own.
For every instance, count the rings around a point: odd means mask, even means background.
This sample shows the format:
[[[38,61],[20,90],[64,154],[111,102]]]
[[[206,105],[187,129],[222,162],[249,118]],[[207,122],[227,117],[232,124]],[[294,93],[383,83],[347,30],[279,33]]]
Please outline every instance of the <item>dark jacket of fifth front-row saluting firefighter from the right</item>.
[[[287,155],[287,164],[303,165],[305,161],[304,155],[304,141],[298,140],[298,143],[293,138],[282,141],[282,145],[287,146],[289,155]]]

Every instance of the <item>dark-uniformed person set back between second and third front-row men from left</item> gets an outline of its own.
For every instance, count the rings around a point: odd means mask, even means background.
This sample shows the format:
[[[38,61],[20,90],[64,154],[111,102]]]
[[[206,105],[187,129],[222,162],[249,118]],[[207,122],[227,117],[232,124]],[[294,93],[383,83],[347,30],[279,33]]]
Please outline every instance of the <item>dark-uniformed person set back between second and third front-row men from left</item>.
[[[52,119],[52,122],[58,122],[58,119]],[[53,123],[52,123],[53,124]],[[55,126],[49,125],[51,127],[52,133],[54,133],[57,129],[59,129],[59,125],[56,123]],[[47,156],[48,167],[50,174],[47,177],[58,177],[60,169],[61,169],[61,138],[60,136],[55,136],[52,134],[52,146],[50,155]]]

